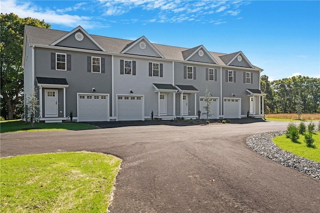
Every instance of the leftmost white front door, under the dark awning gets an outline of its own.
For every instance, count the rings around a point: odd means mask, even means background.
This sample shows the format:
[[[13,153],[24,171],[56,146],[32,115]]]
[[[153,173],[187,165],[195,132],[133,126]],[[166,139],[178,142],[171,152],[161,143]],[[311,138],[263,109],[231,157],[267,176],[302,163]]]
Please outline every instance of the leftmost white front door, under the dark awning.
[[[58,90],[44,90],[44,115],[49,117],[58,116]]]

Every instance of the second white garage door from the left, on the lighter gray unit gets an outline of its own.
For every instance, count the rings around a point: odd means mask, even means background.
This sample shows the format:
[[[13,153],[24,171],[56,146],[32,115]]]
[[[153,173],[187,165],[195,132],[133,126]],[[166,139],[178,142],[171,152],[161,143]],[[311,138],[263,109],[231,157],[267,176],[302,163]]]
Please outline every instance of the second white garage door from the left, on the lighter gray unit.
[[[144,120],[142,96],[117,96],[117,120]]]

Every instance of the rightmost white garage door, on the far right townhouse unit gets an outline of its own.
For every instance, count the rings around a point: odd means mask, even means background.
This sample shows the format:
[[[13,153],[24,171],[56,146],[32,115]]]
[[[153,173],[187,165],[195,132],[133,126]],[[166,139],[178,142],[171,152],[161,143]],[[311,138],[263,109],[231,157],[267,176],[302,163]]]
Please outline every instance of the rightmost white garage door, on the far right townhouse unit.
[[[223,117],[241,118],[240,106],[240,98],[223,98]]]

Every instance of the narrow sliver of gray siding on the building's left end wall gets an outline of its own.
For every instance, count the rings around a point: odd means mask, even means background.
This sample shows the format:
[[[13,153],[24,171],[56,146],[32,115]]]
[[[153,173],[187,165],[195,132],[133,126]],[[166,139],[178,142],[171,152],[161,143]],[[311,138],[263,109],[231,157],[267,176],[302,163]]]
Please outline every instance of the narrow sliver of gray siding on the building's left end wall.
[[[26,39],[25,44],[25,61],[24,61],[24,105],[27,104],[27,98],[33,91],[33,79],[32,79],[32,47],[29,46],[29,41]]]

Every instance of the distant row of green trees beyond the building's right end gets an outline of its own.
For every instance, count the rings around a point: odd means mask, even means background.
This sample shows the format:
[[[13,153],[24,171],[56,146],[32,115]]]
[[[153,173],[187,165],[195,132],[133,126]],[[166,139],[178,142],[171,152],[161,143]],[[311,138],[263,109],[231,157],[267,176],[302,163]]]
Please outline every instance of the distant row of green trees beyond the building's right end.
[[[298,75],[269,81],[262,75],[260,79],[261,91],[266,93],[264,113],[320,112],[320,78]]]

